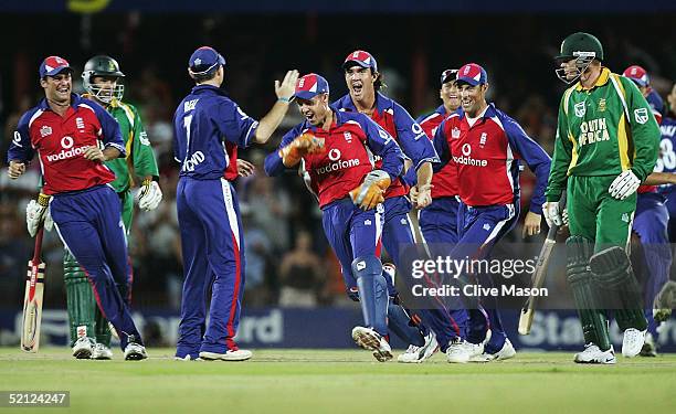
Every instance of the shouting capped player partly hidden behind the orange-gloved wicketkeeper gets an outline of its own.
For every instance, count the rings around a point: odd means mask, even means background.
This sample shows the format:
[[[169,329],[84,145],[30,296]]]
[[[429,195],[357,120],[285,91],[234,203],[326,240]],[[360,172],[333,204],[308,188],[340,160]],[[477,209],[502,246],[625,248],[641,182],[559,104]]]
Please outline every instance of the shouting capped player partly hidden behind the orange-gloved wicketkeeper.
[[[415,173],[416,206],[430,205],[432,202],[432,164],[439,162],[439,157],[430,140],[422,139],[425,138],[425,132],[401,105],[380,93],[383,79],[382,74],[378,72],[378,63],[373,55],[366,51],[355,51],[347,55],[342,68],[349,93],[335,102],[334,106],[341,112],[367,115],[397,140],[409,158],[406,161],[409,168]],[[404,172],[402,171],[401,177],[392,182],[384,195],[382,244],[394,261],[394,265],[400,264],[400,252],[415,243],[409,219],[412,205],[406,198],[409,185],[403,180]],[[390,296],[392,301],[397,302],[394,273],[385,272],[385,275]],[[408,283],[409,279],[406,278],[405,282]],[[389,325],[394,332],[404,337],[404,340],[410,343],[406,352],[398,358],[399,362],[422,362],[430,358],[437,347],[445,351],[466,322],[464,319],[455,320],[443,304],[437,304],[439,308],[431,306],[431,309],[416,310],[419,315],[414,316],[414,319],[422,320],[422,323],[420,331],[415,332],[410,329],[409,315],[400,312],[400,307],[397,304],[393,305],[388,314]]]

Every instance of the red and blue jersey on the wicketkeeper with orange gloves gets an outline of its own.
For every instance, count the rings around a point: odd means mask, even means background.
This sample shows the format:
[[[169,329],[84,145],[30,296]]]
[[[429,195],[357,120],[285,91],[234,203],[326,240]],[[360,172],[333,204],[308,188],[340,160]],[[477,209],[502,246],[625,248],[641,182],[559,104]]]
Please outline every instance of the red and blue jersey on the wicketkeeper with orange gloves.
[[[363,114],[334,110],[334,123],[328,130],[306,120],[284,135],[278,149],[305,132],[324,139],[324,151],[303,157],[320,208],[348,197],[376,168],[390,174],[392,182],[403,168],[404,156],[397,141]],[[268,176],[278,176],[285,169],[278,152],[265,158]],[[374,156],[381,158],[380,167],[376,167]]]

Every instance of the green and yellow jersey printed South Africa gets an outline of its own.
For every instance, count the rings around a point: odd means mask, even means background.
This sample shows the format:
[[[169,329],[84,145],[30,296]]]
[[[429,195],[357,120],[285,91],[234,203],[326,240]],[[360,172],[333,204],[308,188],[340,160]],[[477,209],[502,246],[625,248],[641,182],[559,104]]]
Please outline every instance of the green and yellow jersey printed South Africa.
[[[578,82],[559,106],[547,201],[558,201],[568,176],[617,176],[631,169],[644,181],[659,149],[659,127],[636,85],[601,71],[596,84]]]

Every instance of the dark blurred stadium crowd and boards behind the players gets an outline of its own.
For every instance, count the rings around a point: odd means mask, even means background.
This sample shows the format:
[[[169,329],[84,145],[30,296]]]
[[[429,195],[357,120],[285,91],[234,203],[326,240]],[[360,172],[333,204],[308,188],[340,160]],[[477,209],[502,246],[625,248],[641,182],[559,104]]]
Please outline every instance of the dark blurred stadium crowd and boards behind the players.
[[[383,12],[385,3],[388,11]],[[73,12],[78,6],[104,9],[91,14]],[[476,62],[488,72],[490,100],[519,120],[551,153],[556,110],[564,87],[553,73],[551,56],[558,52],[561,39],[578,30],[594,33],[604,45],[609,67],[621,72],[630,64],[644,65],[653,86],[664,97],[676,78],[674,10],[676,7],[666,1],[643,1],[641,8],[622,1],[547,6],[527,0],[509,6],[498,1],[475,6],[399,0],[255,4],[212,4],[204,0],[3,2],[0,344],[18,341],[14,329],[23,297],[22,276],[32,251],[24,205],[35,194],[38,177],[33,164],[32,174],[10,182],[4,157],[18,117],[42,97],[38,66],[46,55],[68,60],[77,72],[74,81],[80,79],[84,62],[99,53],[117,59],[127,75],[125,100],[141,110],[165,192],[158,211],[137,212],[135,216],[130,236],[134,305],[137,316],[149,322],[145,323],[147,336],[157,343],[170,344],[182,282],[173,203],[177,164],[171,156],[171,117],[191,87],[187,59],[197,46],[212,45],[225,56],[224,88],[255,118],[271,107],[275,98],[273,81],[288,68],[323,74],[331,85],[332,98],[342,96],[347,88],[340,64],[356,49],[376,56],[388,85],[384,93],[414,117],[440,104],[439,74],[444,68]],[[581,11],[584,17],[580,17]],[[80,82],[74,84],[74,89],[81,92]],[[305,342],[306,346],[349,346],[345,332],[359,314],[342,293],[339,267],[321,233],[314,199],[293,173],[281,179],[262,173],[264,156],[274,149],[283,132],[300,120],[293,107],[289,115],[271,140],[273,145],[241,152],[241,158],[258,168],[256,176],[237,182],[247,254],[242,342],[298,347],[304,344],[305,322],[316,329],[328,326],[335,332],[323,342]],[[530,181],[531,177],[525,174],[526,204]],[[519,229],[511,233],[510,241],[518,241],[518,234]],[[307,250],[298,247],[305,243]],[[49,234],[44,248],[49,268],[45,307],[52,311],[45,314],[43,329],[55,343],[63,342],[65,333],[61,258],[61,242],[54,233]],[[282,266],[285,261],[288,266]],[[284,272],[286,268],[289,270]],[[552,288],[563,288],[561,277],[550,278],[550,284]],[[542,335],[541,342],[521,346],[567,348],[579,343],[581,332],[567,328],[574,327],[572,314],[545,315],[550,319],[540,320],[542,329],[556,322],[561,338],[553,340]],[[674,347],[676,327],[672,325],[668,332],[666,344]]]

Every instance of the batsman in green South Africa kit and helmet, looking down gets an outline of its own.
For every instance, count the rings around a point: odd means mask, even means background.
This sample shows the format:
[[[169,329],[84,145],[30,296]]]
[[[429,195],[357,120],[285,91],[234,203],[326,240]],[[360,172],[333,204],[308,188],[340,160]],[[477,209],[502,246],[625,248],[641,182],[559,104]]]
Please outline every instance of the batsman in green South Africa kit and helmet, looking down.
[[[543,209],[548,223],[561,224],[558,201],[566,189],[567,274],[585,342],[574,361],[613,364],[604,309],[613,309],[624,331],[625,357],[638,354],[647,328],[625,247],[636,189],[655,166],[659,128],[636,85],[604,67],[603,59],[601,42],[589,33],[561,43],[557,75],[572,86],[559,107]]]

